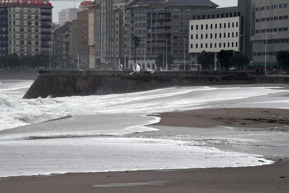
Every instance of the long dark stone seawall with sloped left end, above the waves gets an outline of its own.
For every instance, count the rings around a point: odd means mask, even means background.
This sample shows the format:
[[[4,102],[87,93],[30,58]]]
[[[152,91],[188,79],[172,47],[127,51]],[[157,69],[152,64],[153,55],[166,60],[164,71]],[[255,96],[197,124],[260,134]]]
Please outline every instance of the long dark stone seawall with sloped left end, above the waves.
[[[286,76],[249,76],[230,72],[229,76],[195,76],[192,72],[158,72],[158,76],[126,76],[118,71],[88,71],[87,75],[39,74],[25,99],[107,95],[148,91],[172,86],[289,83]]]

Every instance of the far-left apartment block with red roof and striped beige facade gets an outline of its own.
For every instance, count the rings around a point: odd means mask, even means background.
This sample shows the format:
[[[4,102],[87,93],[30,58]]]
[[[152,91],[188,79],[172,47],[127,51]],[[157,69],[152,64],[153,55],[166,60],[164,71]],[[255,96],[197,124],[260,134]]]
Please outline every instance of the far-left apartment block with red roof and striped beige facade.
[[[52,5],[45,0],[0,3],[0,55],[49,54]]]

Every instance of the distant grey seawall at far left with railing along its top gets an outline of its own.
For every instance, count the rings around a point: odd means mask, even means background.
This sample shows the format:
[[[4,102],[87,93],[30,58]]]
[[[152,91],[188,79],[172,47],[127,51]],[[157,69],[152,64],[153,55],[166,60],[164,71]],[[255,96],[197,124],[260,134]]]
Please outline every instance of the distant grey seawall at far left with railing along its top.
[[[0,80],[35,80],[37,69],[0,69]]]

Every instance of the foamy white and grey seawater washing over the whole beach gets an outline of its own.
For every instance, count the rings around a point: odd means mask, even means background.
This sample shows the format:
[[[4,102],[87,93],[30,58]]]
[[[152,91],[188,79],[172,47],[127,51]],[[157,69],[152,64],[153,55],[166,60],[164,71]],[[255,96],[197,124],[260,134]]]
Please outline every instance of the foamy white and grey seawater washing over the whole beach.
[[[0,177],[272,164],[255,152],[205,146],[210,140],[225,141],[224,133],[210,137],[127,134],[157,131],[149,124],[160,121],[151,115],[159,112],[225,107],[289,109],[289,90],[282,87],[170,87],[127,94],[21,99],[31,84],[0,84]],[[65,116],[71,117],[58,119]],[[268,133],[286,133],[286,128],[285,132],[276,129]],[[228,139],[231,144],[260,142],[254,134],[250,139],[241,135]]]

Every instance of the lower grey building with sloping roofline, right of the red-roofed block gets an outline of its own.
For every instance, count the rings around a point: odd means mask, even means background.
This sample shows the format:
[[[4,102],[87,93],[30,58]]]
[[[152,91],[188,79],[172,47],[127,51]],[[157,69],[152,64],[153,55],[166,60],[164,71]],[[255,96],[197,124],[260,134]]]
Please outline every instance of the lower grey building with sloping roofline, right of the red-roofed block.
[[[61,68],[70,68],[69,58],[69,27],[72,22],[65,22],[63,25],[53,29],[51,49],[52,55],[55,55],[58,61],[58,66]]]

